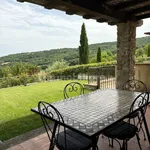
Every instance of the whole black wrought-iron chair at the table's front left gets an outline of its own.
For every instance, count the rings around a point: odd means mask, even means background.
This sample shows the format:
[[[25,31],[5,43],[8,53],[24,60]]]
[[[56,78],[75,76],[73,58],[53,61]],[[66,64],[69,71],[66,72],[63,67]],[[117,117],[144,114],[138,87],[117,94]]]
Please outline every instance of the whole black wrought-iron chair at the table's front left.
[[[53,150],[55,146],[60,150],[88,150],[92,147],[90,139],[63,126],[63,116],[53,105],[40,101],[38,110],[50,141],[49,150]]]

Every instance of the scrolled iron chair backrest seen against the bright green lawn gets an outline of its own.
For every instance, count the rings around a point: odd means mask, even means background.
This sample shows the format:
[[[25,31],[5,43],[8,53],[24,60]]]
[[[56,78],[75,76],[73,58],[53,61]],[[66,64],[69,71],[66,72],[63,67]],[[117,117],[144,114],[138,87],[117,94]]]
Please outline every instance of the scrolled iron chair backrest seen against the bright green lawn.
[[[70,82],[64,87],[64,98],[84,94],[84,87],[79,82]]]

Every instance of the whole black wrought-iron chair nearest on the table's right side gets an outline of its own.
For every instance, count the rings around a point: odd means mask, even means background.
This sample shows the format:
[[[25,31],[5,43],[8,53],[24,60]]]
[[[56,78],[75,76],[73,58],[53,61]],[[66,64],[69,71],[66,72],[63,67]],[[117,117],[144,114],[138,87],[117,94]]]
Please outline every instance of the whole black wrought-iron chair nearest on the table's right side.
[[[103,134],[111,138],[113,140],[116,140],[121,150],[127,150],[128,141],[136,136],[138,145],[140,150],[142,150],[140,145],[140,138],[139,138],[139,132],[141,130],[141,126],[143,123],[143,116],[146,113],[147,105],[149,103],[149,93],[141,93],[138,95],[135,100],[133,101],[129,116],[135,113],[135,108],[138,109],[139,119],[136,121],[135,117],[128,117],[127,121],[120,121],[117,124],[112,125],[110,128],[108,128]],[[119,140],[123,141],[123,144],[121,145]],[[113,145],[112,145],[113,146]]]

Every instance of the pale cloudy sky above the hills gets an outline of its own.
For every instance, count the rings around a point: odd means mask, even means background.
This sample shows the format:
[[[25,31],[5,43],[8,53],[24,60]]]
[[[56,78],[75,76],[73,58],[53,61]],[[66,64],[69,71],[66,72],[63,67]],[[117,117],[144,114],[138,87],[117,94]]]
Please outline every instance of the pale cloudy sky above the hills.
[[[83,22],[89,44],[116,41],[116,26],[35,4],[0,0],[0,56],[78,47]],[[137,28],[137,37],[146,36],[149,25],[150,19],[145,19]]]

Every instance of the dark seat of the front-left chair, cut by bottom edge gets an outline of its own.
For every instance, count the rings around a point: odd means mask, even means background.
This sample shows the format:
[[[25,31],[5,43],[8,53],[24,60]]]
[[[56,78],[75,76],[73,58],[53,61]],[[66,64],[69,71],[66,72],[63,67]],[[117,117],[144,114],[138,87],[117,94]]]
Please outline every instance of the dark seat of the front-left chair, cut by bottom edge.
[[[55,136],[55,139],[57,139],[56,137],[57,135]],[[72,130],[66,130],[66,145],[67,150],[88,150],[92,146],[92,141]],[[65,147],[64,132],[59,133],[56,146],[59,149]]]

